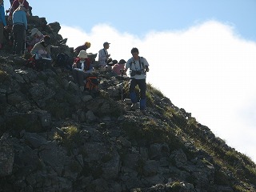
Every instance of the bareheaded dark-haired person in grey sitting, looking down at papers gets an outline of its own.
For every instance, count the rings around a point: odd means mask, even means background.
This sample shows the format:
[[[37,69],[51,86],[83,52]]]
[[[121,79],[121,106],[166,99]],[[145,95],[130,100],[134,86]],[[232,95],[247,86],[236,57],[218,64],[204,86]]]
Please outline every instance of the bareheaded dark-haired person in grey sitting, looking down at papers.
[[[51,69],[56,74],[56,70],[52,66],[52,58],[50,56],[50,36],[43,36],[42,40],[34,45],[30,51],[36,60],[36,68],[38,70]]]

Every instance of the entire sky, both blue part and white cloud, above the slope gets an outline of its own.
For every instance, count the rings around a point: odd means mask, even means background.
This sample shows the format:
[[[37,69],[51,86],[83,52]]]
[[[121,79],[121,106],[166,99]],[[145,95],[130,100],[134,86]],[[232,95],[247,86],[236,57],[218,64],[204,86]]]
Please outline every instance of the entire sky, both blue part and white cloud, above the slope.
[[[68,46],[90,41],[98,53],[108,41],[117,60],[138,47],[147,82],[256,162],[255,0],[29,2],[60,22]]]

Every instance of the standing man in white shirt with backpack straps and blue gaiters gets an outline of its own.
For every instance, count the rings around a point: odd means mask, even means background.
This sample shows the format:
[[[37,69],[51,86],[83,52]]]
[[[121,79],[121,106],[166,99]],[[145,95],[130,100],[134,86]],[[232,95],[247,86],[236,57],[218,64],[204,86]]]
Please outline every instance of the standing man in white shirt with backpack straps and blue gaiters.
[[[140,105],[139,108],[141,111],[146,110],[146,72],[149,72],[149,63],[146,61],[146,58],[138,56],[138,49],[133,48],[131,51],[133,55],[126,62],[125,72],[130,69],[130,99],[133,103],[131,106],[132,110],[137,110],[138,108],[138,99],[135,93],[135,86],[138,85],[140,89]]]

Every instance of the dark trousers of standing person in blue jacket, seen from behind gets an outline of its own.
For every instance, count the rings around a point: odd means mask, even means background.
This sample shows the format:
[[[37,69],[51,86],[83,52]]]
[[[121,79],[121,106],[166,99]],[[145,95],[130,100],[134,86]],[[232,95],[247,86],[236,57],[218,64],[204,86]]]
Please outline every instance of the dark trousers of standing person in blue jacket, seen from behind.
[[[25,43],[25,26],[20,24],[14,24],[14,54],[22,54],[22,49]]]

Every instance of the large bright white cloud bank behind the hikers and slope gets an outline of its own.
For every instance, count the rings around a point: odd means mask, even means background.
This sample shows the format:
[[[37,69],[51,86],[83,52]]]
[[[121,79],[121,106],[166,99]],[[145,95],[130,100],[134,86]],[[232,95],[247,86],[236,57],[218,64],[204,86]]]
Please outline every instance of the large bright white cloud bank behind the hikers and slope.
[[[256,43],[239,37],[233,26],[210,21],[143,38],[107,25],[94,26],[89,33],[62,26],[60,33],[69,46],[90,41],[92,53],[110,42],[109,53],[117,60],[127,60],[131,48],[138,47],[150,63],[150,83],[256,162]]]

